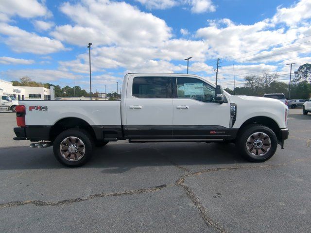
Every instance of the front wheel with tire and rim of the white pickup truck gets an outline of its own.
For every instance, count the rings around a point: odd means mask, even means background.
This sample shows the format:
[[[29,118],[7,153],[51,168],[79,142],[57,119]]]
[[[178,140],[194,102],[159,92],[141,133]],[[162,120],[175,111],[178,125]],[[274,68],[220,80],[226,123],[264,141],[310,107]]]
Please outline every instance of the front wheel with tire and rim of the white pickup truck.
[[[276,152],[276,134],[264,125],[248,125],[238,137],[238,151],[248,161],[264,162]]]

